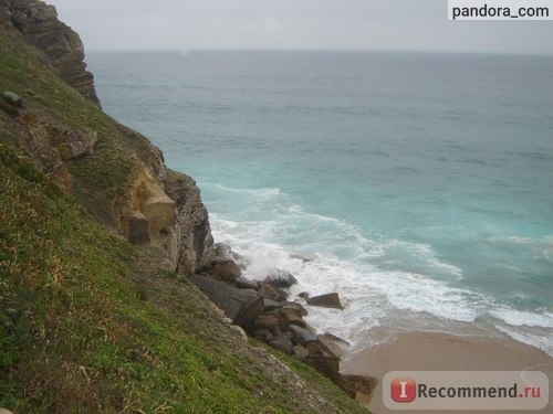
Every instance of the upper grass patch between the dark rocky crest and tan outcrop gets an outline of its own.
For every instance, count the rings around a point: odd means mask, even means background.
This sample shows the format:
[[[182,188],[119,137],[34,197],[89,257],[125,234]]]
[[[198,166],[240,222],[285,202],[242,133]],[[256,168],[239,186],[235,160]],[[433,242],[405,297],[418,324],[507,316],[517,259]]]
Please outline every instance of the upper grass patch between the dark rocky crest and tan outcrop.
[[[76,197],[84,203],[104,199],[113,202],[123,194],[138,158],[146,163],[153,161],[152,145],[144,136],[118,125],[82,98],[54,73],[44,70],[35,50],[22,39],[1,31],[0,73],[0,92],[17,93],[27,108],[35,110],[49,124],[70,132],[98,135],[93,156],[67,164],[80,183]],[[0,123],[6,127],[8,116],[0,113]]]

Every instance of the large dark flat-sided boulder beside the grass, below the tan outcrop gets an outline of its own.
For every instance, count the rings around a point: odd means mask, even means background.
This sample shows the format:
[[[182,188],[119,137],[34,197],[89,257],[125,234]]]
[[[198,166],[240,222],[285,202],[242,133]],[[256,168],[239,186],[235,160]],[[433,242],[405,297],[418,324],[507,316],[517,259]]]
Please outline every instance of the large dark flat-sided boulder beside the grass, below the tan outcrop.
[[[243,327],[264,310],[263,298],[254,290],[239,289],[200,275],[191,275],[190,282],[236,325]]]

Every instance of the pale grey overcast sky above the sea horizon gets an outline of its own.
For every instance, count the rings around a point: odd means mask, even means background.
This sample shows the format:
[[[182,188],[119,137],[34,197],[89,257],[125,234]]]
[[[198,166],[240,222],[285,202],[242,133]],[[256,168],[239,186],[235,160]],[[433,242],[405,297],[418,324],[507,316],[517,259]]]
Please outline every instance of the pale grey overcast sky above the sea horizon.
[[[553,21],[448,21],[447,0],[46,0],[88,51],[553,54]]]

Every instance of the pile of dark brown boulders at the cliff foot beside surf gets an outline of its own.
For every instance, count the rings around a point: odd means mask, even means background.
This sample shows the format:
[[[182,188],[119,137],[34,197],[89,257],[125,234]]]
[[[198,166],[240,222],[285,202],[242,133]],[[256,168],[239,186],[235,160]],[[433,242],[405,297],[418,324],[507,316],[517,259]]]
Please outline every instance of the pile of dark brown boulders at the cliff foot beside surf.
[[[316,335],[303,317],[307,310],[289,300],[286,291],[298,280],[285,270],[273,269],[263,280],[242,277],[244,261],[226,245],[216,245],[216,255],[190,280],[249,336],[295,355],[314,367],[349,395],[371,394],[376,379],[340,373],[340,354],[347,342],[331,333]],[[343,309],[336,293],[300,297],[311,306]]]

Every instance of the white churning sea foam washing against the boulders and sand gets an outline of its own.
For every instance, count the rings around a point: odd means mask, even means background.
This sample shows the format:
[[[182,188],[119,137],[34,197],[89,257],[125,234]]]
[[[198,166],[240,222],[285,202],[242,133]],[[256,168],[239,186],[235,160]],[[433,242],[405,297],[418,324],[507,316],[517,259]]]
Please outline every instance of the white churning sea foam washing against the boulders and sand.
[[[369,343],[371,329],[382,325],[396,330],[440,329],[457,333],[456,322],[470,323],[482,315],[490,315],[503,322],[498,328],[501,332],[551,351],[543,332],[532,335],[514,329],[520,326],[553,328],[551,312],[515,310],[480,293],[451,286],[452,282],[462,279],[462,270],[441,262],[427,244],[396,238],[383,241],[382,237],[369,240],[344,221],[310,214],[301,205],[291,204],[291,198],[280,189],[216,187],[222,192],[248,194],[250,210],[267,212],[269,205],[272,209],[268,220],[258,221],[238,222],[227,219],[226,214],[211,213],[215,238],[231,245],[246,258],[246,277],[263,279],[274,268],[291,272],[299,280],[290,289],[291,298],[299,301],[302,301],[298,297],[302,291],[312,296],[340,294],[344,310],[304,304],[310,311],[306,320],[321,332],[337,335],[358,348],[364,341]],[[251,211],[242,211],[242,214],[257,215]],[[436,279],[419,273],[390,270],[389,262],[395,261],[398,251],[403,257],[416,257],[447,277]],[[388,268],[379,268],[375,261],[386,263]]]

